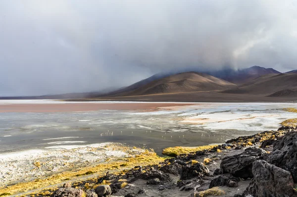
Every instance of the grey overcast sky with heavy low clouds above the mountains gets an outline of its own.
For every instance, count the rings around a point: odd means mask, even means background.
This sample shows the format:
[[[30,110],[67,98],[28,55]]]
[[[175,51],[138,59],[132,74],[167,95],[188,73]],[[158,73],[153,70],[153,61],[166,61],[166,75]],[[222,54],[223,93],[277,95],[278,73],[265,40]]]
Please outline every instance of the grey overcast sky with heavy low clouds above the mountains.
[[[296,62],[296,0],[0,0],[0,96]]]

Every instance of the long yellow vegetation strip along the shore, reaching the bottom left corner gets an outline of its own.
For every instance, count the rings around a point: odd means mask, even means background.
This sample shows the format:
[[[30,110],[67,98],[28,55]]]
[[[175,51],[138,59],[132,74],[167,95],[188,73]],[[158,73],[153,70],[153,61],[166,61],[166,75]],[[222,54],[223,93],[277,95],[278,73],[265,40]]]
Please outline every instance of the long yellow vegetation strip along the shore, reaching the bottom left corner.
[[[134,166],[147,166],[159,164],[159,162],[163,162],[164,158],[159,157],[155,152],[145,150],[144,152],[138,155],[130,155],[129,157],[121,158],[116,161],[111,160],[109,162],[100,163],[96,166],[89,166],[80,169],[75,169],[72,171],[60,172],[55,175],[51,175],[44,179],[36,179],[31,182],[21,182],[15,185],[7,186],[5,188],[0,188],[0,195],[5,193],[18,194],[23,192],[28,192],[30,190],[38,191],[38,189],[43,188],[42,190],[46,190],[51,188],[52,185],[61,184],[65,180],[77,179],[77,175],[90,174],[90,172],[94,172],[92,175],[94,176],[103,176],[107,171],[110,171],[115,174],[119,174],[124,169],[133,168]],[[120,166],[121,164],[126,163],[125,167],[118,167],[117,169],[112,168],[113,166]],[[84,179],[81,176],[81,179]],[[92,179],[89,177],[89,179]],[[87,180],[87,178],[85,178]],[[56,187],[56,186],[55,186]]]

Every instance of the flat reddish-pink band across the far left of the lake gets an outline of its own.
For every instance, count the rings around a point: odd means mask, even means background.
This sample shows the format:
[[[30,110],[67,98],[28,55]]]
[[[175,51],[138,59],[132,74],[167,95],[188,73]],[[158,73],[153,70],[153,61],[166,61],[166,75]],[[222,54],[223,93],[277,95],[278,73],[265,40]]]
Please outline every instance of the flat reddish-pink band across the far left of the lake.
[[[192,103],[194,104],[194,103]],[[2,103],[0,112],[72,112],[96,110],[157,110],[159,107],[185,106],[191,103]]]

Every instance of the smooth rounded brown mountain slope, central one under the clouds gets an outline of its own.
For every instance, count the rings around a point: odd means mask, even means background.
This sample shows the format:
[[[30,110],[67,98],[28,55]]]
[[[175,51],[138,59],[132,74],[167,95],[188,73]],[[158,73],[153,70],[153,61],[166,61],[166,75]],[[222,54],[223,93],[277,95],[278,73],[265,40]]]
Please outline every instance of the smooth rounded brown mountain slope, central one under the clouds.
[[[235,84],[216,77],[197,73],[185,72],[162,79],[154,80],[134,91],[126,92],[121,96],[153,95],[196,91],[219,91],[236,87]]]

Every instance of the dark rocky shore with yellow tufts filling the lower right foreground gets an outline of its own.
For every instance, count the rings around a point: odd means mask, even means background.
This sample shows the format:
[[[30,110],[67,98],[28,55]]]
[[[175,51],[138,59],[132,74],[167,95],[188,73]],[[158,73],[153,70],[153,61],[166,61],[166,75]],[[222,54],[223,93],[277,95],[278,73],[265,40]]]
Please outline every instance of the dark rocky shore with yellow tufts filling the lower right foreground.
[[[189,154],[172,151],[165,152],[176,156],[158,165],[106,172],[31,196],[297,197],[297,128],[281,127]]]

